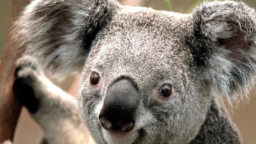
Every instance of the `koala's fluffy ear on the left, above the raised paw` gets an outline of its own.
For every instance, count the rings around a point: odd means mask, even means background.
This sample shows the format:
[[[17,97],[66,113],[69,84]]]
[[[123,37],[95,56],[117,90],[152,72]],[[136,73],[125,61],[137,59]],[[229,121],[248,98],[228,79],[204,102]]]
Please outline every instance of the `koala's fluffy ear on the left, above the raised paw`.
[[[15,23],[13,40],[52,78],[80,72],[115,6],[111,0],[33,0]]]

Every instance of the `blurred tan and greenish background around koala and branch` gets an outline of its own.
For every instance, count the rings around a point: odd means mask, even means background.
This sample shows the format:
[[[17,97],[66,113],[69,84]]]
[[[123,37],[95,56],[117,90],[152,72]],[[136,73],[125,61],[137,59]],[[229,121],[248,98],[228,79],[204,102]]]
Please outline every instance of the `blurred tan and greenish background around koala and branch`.
[[[203,0],[119,0],[123,5],[146,6],[158,10],[190,13],[198,3]],[[242,0],[250,7],[256,7],[256,0]],[[0,0],[0,56],[6,42],[9,28],[9,15],[11,13],[11,0]],[[76,84],[79,78],[69,78],[61,87],[72,94],[76,94]],[[72,87],[70,83],[73,83]],[[230,115],[236,123],[245,144],[256,144],[256,98],[252,92],[250,102],[240,103],[239,107],[230,110]],[[14,144],[39,144],[43,138],[40,127],[30,118],[26,109],[22,109],[14,137]]]

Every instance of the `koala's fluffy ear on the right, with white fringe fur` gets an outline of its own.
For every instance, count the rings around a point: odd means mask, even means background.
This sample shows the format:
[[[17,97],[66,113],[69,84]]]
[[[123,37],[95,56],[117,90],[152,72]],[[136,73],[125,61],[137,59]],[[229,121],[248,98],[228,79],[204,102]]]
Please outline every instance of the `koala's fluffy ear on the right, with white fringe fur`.
[[[193,12],[191,52],[228,100],[247,93],[256,74],[256,15],[243,2],[206,2]]]

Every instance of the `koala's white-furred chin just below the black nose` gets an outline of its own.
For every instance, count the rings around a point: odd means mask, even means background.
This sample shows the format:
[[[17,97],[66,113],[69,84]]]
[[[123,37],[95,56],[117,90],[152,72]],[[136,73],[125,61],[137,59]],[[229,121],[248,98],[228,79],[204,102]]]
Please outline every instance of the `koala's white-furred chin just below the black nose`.
[[[130,133],[110,132],[105,129],[102,130],[103,137],[108,144],[132,144],[138,137],[138,131]]]

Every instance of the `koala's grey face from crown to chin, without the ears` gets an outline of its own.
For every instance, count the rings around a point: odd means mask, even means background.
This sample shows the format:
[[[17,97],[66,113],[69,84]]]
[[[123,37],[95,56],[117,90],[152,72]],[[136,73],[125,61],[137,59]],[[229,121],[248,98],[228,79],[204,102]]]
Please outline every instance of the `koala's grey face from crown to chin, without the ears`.
[[[210,104],[207,87],[197,84],[190,66],[185,35],[191,16],[147,11],[116,13],[99,34],[101,40],[94,43],[83,68],[78,99],[99,143],[189,142]],[[173,21],[166,23],[169,19]],[[95,73],[99,80],[93,84]],[[165,89],[170,94],[163,95]],[[101,115],[109,122],[100,120]],[[126,122],[132,123],[130,130],[118,126]],[[111,131],[104,127],[108,123]]]

